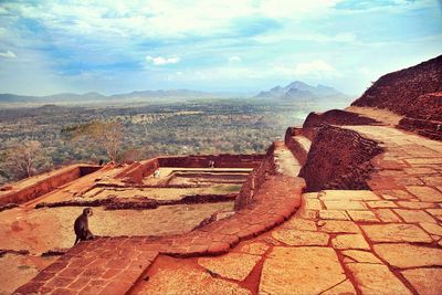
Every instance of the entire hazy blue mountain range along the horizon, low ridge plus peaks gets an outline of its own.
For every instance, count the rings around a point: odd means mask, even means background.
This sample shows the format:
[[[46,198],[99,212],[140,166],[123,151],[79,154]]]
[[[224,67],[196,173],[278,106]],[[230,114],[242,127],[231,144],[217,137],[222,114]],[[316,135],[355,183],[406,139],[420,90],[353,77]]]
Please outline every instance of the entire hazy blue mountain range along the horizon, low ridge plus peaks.
[[[234,93],[210,93],[189,89],[168,89],[168,91],[137,91],[125,94],[103,95],[97,92],[88,92],[85,94],[61,93],[48,96],[27,96],[15,94],[0,94],[0,103],[125,103],[125,102],[165,102],[179,101],[179,98],[197,99],[197,98],[228,98],[244,97],[244,94]],[[285,87],[276,86],[270,91],[261,92],[252,97],[261,99],[280,99],[280,101],[323,101],[323,99],[341,99],[348,98],[347,95],[336,91],[335,88],[318,85],[311,86],[304,82],[295,81]]]

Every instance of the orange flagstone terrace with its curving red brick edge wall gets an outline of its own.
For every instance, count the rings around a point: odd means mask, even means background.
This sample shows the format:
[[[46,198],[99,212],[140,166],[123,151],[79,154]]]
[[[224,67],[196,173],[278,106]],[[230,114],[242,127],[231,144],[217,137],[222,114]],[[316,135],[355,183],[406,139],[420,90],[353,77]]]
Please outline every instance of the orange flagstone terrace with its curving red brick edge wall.
[[[17,292],[441,294],[442,144],[386,126],[346,128],[385,149],[371,191],[299,200],[296,178],[269,176],[253,209],[182,236],[82,242]]]

